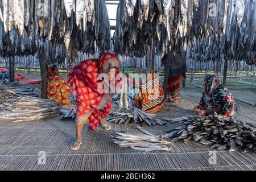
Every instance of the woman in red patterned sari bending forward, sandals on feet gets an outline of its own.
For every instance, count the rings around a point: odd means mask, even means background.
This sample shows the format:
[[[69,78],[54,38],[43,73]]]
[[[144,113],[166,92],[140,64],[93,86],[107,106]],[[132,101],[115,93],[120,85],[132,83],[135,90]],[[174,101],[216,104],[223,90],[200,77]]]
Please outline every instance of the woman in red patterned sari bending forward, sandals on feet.
[[[96,130],[100,122],[106,130],[111,129],[104,118],[110,113],[113,94],[100,92],[102,80],[97,77],[105,73],[108,74],[108,82],[113,81],[120,64],[117,55],[105,52],[99,59],[82,61],[69,73],[68,84],[77,99],[76,141],[71,144],[72,150],[79,150],[82,144],[82,127],[87,119],[90,130]]]

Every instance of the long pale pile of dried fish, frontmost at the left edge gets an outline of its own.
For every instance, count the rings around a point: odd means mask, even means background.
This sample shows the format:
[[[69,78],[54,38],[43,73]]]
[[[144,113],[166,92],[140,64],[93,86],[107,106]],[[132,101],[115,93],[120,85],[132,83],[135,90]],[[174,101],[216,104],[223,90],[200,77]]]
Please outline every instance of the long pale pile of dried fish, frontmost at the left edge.
[[[1,121],[38,121],[59,115],[60,104],[36,97],[17,97],[0,103]]]

